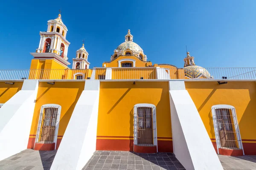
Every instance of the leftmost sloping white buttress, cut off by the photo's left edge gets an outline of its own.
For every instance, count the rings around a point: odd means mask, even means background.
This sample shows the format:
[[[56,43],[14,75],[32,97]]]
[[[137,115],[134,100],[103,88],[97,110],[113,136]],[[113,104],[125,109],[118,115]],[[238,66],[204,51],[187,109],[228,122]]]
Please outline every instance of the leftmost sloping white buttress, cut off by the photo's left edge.
[[[38,80],[24,80],[23,86],[0,108],[0,160],[27,148]]]

